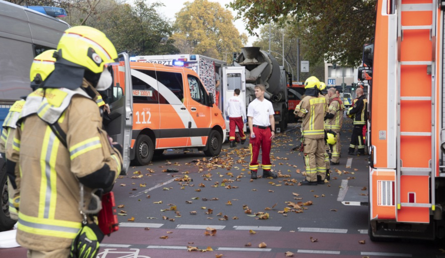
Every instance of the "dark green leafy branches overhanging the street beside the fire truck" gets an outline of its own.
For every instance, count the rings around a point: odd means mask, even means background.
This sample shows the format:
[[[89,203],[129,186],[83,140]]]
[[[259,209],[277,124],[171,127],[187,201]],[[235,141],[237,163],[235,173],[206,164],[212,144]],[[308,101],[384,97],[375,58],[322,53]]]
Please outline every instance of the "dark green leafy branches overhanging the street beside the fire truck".
[[[233,0],[228,6],[238,12],[235,19],[242,19],[251,34],[271,21],[293,24],[303,28],[300,39],[308,51],[347,66],[361,62],[363,44],[375,33],[375,0]]]

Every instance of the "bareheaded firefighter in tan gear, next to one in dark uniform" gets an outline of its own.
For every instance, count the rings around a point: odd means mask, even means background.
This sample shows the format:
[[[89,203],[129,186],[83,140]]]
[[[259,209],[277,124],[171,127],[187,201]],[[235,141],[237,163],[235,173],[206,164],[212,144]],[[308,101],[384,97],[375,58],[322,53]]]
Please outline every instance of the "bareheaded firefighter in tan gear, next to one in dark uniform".
[[[340,130],[342,129],[343,124],[343,110],[345,106],[341,99],[338,98],[338,95],[335,93],[335,88],[330,88],[328,90],[329,102],[328,102],[328,111],[326,113],[326,122],[325,128],[326,130],[331,130],[336,135],[335,145],[331,145],[332,148],[332,156],[331,156],[331,165],[338,165],[340,162]]]

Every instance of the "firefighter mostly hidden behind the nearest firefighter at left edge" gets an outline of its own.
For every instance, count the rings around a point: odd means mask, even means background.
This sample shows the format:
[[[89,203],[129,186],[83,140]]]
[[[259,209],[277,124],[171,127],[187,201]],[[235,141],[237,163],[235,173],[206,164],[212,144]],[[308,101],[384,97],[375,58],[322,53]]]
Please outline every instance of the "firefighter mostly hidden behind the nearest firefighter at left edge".
[[[55,50],[46,50],[34,58],[30,72],[31,88],[37,88],[38,85],[53,72],[54,63],[56,62],[56,59],[53,58],[54,51]],[[12,148],[15,129],[17,127],[16,124],[24,103],[24,99],[17,100],[9,109],[9,113],[3,122],[2,135],[0,136],[0,153],[5,159],[6,149]],[[17,208],[20,202],[20,196],[18,195],[20,173],[18,169],[11,170],[11,173],[12,174],[8,174],[9,214],[11,219],[17,220]]]

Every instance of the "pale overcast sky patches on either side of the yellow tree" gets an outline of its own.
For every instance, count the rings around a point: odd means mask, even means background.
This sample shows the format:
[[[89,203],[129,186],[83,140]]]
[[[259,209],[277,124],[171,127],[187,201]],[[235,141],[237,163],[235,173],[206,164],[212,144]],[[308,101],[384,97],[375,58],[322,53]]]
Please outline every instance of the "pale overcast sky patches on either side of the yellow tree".
[[[158,1],[149,0],[149,2],[150,3],[153,3],[153,2],[163,3],[165,6],[162,8],[159,8],[158,10],[161,13],[163,13],[167,18],[170,18],[173,21],[175,14],[177,12],[179,12],[184,7],[184,3],[193,2],[193,0],[158,0]],[[230,3],[231,0],[211,0],[211,2],[218,2],[225,9],[226,8],[225,5]],[[235,12],[231,8],[228,8],[228,10],[230,10],[232,12],[233,17],[235,17]],[[238,31],[240,33],[246,33],[246,35],[249,36],[247,31],[244,29],[244,24],[241,19],[235,20],[233,22],[233,24],[235,25],[235,27],[238,28]],[[247,46],[252,46],[252,43],[255,40],[256,40],[256,37],[249,37],[249,42],[248,42]]]

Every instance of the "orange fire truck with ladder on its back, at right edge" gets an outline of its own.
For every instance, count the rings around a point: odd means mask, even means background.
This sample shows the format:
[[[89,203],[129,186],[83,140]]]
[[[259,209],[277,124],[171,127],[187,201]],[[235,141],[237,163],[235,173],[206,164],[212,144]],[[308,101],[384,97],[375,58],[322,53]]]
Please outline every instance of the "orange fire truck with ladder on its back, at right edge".
[[[369,205],[373,241],[443,239],[445,1],[379,0],[376,10],[358,69],[369,82],[369,196],[346,186],[339,200]]]

